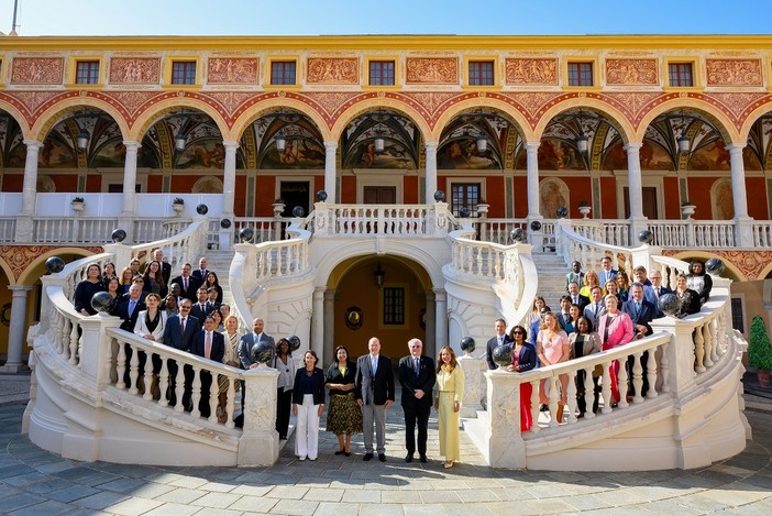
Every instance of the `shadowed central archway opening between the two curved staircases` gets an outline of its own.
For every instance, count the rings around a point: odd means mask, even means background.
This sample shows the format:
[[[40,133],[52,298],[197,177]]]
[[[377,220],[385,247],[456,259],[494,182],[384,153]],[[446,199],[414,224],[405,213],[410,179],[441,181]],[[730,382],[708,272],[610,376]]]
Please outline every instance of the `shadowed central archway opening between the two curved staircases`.
[[[340,344],[352,359],[367,353],[371,337],[391,359],[407,354],[413,337],[427,354],[434,352],[434,294],[429,275],[412,260],[368,255],[342,262],[330,277],[326,304],[334,314],[328,319],[332,328],[324,329],[326,364]]]

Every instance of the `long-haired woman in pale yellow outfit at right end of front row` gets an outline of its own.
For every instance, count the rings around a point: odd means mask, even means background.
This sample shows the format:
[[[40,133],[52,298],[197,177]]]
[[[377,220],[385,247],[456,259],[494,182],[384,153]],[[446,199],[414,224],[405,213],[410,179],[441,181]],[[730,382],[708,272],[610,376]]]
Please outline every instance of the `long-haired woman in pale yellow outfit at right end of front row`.
[[[459,410],[464,397],[464,371],[449,345],[440,350],[437,363],[434,409],[439,411],[440,454],[445,457],[445,468],[453,468],[461,454]]]

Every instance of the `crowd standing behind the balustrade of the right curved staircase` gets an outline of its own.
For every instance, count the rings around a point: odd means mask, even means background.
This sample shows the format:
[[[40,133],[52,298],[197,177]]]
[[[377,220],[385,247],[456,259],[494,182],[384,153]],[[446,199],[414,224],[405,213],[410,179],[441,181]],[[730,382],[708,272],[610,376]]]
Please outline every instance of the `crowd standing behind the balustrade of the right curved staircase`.
[[[582,271],[580,262],[573,262],[571,271],[565,275],[565,295],[560,298],[560,311],[553,312],[543,297],[533,300],[528,326],[515,326],[507,333],[506,321],[498,319],[495,323],[496,336],[488,340],[486,356],[488,367],[498,365],[494,361],[494,350],[501,344],[512,348],[512,363],[508,371],[526,372],[539,366],[548,366],[580,359],[600,351],[610,350],[627,344],[633,339],[642,339],[652,333],[651,321],[663,317],[664,312],[659,299],[665,294],[673,294],[677,306],[672,314],[674,317],[685,317],[699,311],[707,301],[713,287],[713,281],[705,272],[705,264],[694,260],[690,264],[688,275],[677,274],[675,289],[662,285],[662,272],[652,271],[647,275],[643,266],[633,270],[635,282],[629,283],[624,271],[611,266],[611,259],[602,261],[599,272]],[[669,309],[670,311],[670,309]],[[641,396],[646,396],[650,386],[648,378],[649,353],[642,353],[640,365],[642,370]],[[625,364],[628,370],[628,395],[635,396],[632,367],[635,358],[630,356]],[[611,399],[604,403],[615,406],[620,400],[618,373],[620,364],[615,361],[609,367]],[[599,405],[599,378],[603,369],[596,367],[592,373],[593,406],[596,413]],[[575,376],[577,417],[584,417],[587,411],[585,402],[585,372],[580,371]],[[542,380],[539,385],[540,410],[548,410],[549,392]],[[558,421],[562,421],[567,405],[569,376],[559,376],[560,391],[558,403]],[[532,386],[530,383],[520,388],[520,429],[529,430],[533,425],[531,416]]]

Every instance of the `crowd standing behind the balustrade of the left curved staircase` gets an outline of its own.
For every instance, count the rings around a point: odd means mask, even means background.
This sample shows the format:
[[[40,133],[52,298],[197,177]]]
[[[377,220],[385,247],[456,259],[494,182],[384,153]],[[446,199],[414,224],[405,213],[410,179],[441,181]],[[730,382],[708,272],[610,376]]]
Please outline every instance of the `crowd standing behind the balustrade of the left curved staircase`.
[[[133,332],[144,339],[166,344],[180,351],[209,360],[239,366],[238,344],[241,337],[240,321],[230,314],[230,306],[222,303],[222,287],[217,274],[208,267],[207,257],[201,257],[198,268],[192,270],[189,263],[180,267],[176,277],[172,276],[172,265],[164,261],[163,250],[156,249],[150,253],[152,257],[141,272],[141,262],[132,259],[120,275],[112,263],[107,263],[102,271],[98,264],[87,267],[86,278],[76,285],[73,304],[84,316],[92,316],[97,310],[91,305],[91,298],[99,292],[107,292],[113,301],[110,315],[122,319],[121,329]],[[126,364],[130,363],[133,350],[125,347]],[[140,352],[140,371],[136,385],[131,385],[130,371],[126,367],[123,382],[130,388],[136,387],[144,394],[150,389],[155,399],[161,398],[158,374],[162,361],[153,354],[153,380],[145,385],[144,373],[146,356]],[[170,405],[176,405],[177,364],[168,362],[169,388],[166,397]],[[186,366],[185,395],[181,403],[187,410],[192,409],[192,369]],[[212,384],[209,373],[201,373],[201,397],[199,410],[205,417],[210,416],[209,396]],[[225,403],[229,380],[221,375],[217,378],[218,419],[227,420]],[[236,388],[240,384],[236,383]]]

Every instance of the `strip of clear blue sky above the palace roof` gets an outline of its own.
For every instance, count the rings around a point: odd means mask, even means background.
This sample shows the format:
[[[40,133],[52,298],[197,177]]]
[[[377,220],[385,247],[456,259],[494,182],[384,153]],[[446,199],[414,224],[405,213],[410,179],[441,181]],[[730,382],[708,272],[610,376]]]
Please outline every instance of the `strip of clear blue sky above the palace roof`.
[[[20,35],[770,34],[772,0],[19,0]],[[0,0],[0,31],[13,0]]]

